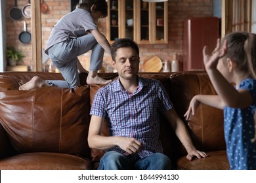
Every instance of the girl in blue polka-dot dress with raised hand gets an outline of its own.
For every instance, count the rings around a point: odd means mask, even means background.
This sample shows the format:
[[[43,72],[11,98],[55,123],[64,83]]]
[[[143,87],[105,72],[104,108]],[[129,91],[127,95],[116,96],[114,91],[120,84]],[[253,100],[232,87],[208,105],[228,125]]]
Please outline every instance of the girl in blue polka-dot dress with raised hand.
[[[234,32],[219,39],[203,62],[217,95],[196,95],[186,120],[200,103],[224,110],[224,136],[230,169],[256,169],[256,35]]]

